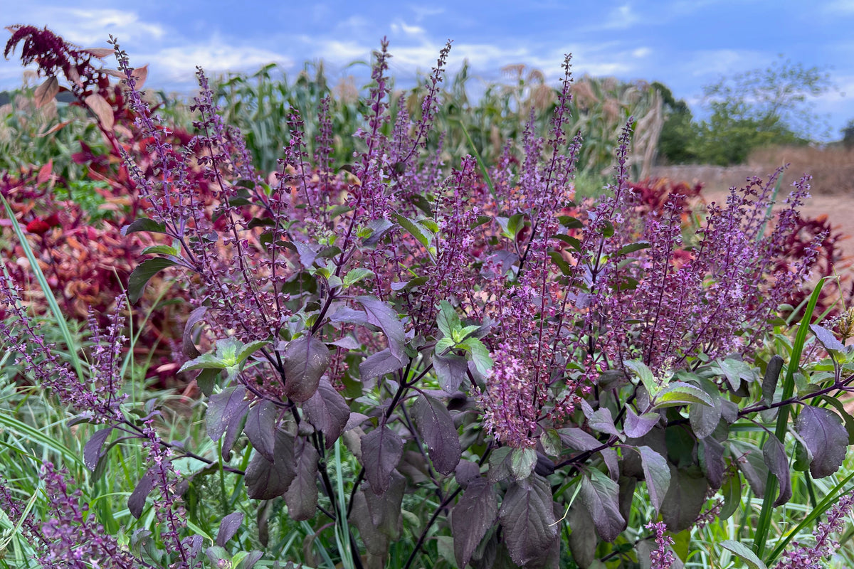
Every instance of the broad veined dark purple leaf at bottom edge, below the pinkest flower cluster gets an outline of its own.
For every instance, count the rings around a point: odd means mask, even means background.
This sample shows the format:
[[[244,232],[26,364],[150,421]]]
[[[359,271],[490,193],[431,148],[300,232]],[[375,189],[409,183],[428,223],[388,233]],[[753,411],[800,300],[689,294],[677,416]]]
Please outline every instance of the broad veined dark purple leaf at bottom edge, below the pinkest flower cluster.
[[[552,503],[552,489],[540,476],[515,481],[507,488],[498,518],[518,566],[542,560],[558,538]]]

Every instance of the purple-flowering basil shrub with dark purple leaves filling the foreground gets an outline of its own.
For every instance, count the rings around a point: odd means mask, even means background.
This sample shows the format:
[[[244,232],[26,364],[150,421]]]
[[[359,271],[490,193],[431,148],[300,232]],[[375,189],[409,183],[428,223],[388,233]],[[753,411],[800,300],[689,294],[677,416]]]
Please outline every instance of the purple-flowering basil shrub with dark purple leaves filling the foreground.
[[[94,477],[119,438],[147,456],[127,505],[155,523],[137,526],[130,553],[109,537],[53,532],[100,533],[73,492],[50,496],[44,526],[0,494],[44,564],[191,567],[207,556],[249,569],[265,553],[284,561],[287,537],[271,542],[272,525],[305,520],[304,553],[292,561],[312,563],[326,533],[336,544],[323,549],[328,566],[634,567],[646,558],[667,567],[687,557],[682,532],[739,509],[746,480],[765,499],[754,549],[716,548],[761,566],[787,544],[765,551],[771,502],[792,496],[794,441],[804,475],[828,477],[842,464],[851,423],[822,405],[851,389],[851,329],[844,319],[836,335],[811,324],[821,286],[795,340],[774,328],[821,247],[820,235],[780,270],[809,177],[773,219],[780,172],[750,180],[709,206],[686,244],[685,195],[662,203],[629,184],[629,119],[608,194],[581,208],[571,200],[581,136],[564,134],[569,57],[547,136],[529,126],[522,156],[508,149],[491,170],[467,156],[448,174],[422,148],[450,44],[412,120],[403,108],[389,116],[383,41],[354,165],[338,171],[328,144],[310,165],[292,113],[268,184],[219,118],[201,70],[197,134],[178,148],[115,49],[154,154],[150,169],[126,161],[149,217],[123,233],[173,243],[147,251],[128,295],[135,302],[164,269],[192,291],[182,369],[198,373],[210,442],[196,451],[198,441],[167,441],[154,405],[122,395],[119,316],[97,335],[92,381],[81,383],[3,284],[15,314],[0,328],[9,348],[38,385],[99,427],[84,450]],[[328,140],[322,113],[320,124]],[[827,353],[825,373],[812,377],[798,372],[810,329],[811,349]],[[201,338],[213,346],[206,353]],[[773,433],[763,426],[761,448],[741,429],[760,415],[776,421]],[[72,484],[62,476],[45,466],[50,488]],[[215,544],[206,511],[221,513]],[[245,514],[257,520],[252,533]],[[838,518],[821,526],[816,551]]]

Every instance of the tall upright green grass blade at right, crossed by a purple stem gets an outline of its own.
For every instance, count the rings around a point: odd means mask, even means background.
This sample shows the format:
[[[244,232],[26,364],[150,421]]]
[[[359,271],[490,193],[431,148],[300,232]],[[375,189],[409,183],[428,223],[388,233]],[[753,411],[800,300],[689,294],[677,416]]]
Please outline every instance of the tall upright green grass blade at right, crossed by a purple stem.
[[[824,279],[816,284],[815,290],[810,295],[810,302],[806,305],[804,317],[801,319],[798,326],[798,334],[795,335],[795,342],[792,346],[792,355],[789,357],[789,363],[786,367],[786,379],[783,381],[783,394],[781,400],[791,398],[795,389],[795,369],[798,369],[800,363],[801,352],[804,351],[806,343],[806,334],[810,330],[810,321],[812,313],[816,310],[818,297],[822,293]],[[789,406],[783,405],[777,415],[777,425],[775,428],[776,437],[782,442],[786,438],[786,431],[789,422]],[[753,538],[753,551],[762,558],[765,549],[765,540],[768,539],[768,531],[771,526],[771,515],[774,513],[773,502],[777,493],[777,479],[773,473],[768,473],[768,481],[765,483],[765,496],[762,501],[762,510],[759,512],[759,519],[756,525],[756,534]]]

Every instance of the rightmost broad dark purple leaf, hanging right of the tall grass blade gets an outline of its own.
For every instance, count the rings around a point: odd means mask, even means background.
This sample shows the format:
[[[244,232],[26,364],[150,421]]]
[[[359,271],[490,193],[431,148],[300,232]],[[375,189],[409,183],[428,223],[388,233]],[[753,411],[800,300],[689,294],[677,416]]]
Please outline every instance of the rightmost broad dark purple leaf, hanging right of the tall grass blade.
[[[839,470],[848,449],[848,433],[839,415],[829,409],[806,405],[795,421],[795,431],[812,454],[810,473],[813,478],[824,478]]]

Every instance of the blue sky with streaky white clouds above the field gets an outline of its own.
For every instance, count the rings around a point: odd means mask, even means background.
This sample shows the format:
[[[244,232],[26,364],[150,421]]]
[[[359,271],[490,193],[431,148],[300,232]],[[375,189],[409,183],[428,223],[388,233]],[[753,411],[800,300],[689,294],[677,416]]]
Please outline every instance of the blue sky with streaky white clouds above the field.
[[[699,111],[704,84],[773,63],[784,55],[827,67],[838,87],[816,100],[830,138],[854,119],[854,0],[751,2],[224,2],[222,0],[0,0],[3,26],[48,26],[84,47],[120,39],[132,64],[149,63],[149,86],[191,87],[196,65],[209,73],[252,71],[276,61],[297,72],[323,59],[333,79],[352,73],[387,36],[398,84],[412,83],[453,39],[450,71],[464,60],[483,81],[525,63],[558,84],[564,53],[576,76],[658,80]],[[20,64],[0,59],[0,89],[22,81]]]

